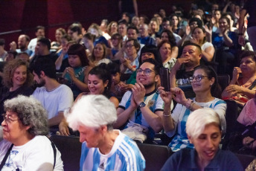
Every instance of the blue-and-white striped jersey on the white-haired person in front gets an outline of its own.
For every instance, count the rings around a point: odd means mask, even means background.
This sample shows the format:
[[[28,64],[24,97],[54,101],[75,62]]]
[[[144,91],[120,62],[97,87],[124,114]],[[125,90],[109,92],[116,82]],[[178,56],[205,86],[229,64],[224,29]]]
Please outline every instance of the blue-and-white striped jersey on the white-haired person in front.
[[[109,154],[103,155],[98,148],[88,148],[82,144],[80,171],[92,170],[144,170],[145,159],[137,144],[119,130],[118,137]]]

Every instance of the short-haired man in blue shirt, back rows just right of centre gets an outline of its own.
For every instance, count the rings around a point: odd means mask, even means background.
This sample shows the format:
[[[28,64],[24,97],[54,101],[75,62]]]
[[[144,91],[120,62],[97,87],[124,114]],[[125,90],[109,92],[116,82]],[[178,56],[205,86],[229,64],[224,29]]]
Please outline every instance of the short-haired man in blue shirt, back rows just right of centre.
[[[142,24],[139,28],[139,33],[141,36],[138,37],[138,42],[144,45],[156,45],[155,39],[148,33],[148,25]]]

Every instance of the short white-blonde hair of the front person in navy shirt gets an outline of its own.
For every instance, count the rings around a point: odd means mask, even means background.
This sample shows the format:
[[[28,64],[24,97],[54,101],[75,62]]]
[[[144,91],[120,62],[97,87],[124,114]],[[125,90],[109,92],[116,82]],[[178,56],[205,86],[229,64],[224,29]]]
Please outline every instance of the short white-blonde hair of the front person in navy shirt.
[[[192,138],[198,138],[208,124],[216,124],[221,130],[219,115],[210,108],[197,109],[188,115],[186,132]]]

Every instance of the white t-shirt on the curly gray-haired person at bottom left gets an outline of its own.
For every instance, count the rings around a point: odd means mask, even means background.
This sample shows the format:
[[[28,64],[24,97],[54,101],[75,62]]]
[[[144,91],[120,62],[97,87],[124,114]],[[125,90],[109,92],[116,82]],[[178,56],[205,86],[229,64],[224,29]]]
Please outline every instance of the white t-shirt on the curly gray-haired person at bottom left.
[[[0,161],[10,148],[9,141],[0,142]],[[1,171],[60,171],[63,170],[63,161],[60,151],[56,148],[56,163],[54,167],[54,150],[51,141],[43,135],[36,135],[31,141],[22,146],[13,146]]]

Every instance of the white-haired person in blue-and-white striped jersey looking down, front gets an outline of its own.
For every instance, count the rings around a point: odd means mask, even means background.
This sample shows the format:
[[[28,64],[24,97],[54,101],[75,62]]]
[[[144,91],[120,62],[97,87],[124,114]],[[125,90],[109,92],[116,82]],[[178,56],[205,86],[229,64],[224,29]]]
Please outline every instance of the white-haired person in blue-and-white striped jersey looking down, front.
[[[145,160],[134,141],[113,129],[115,106],[103,95],[86,95],[65,113],[80,132],[80,170],[144,170]]]

